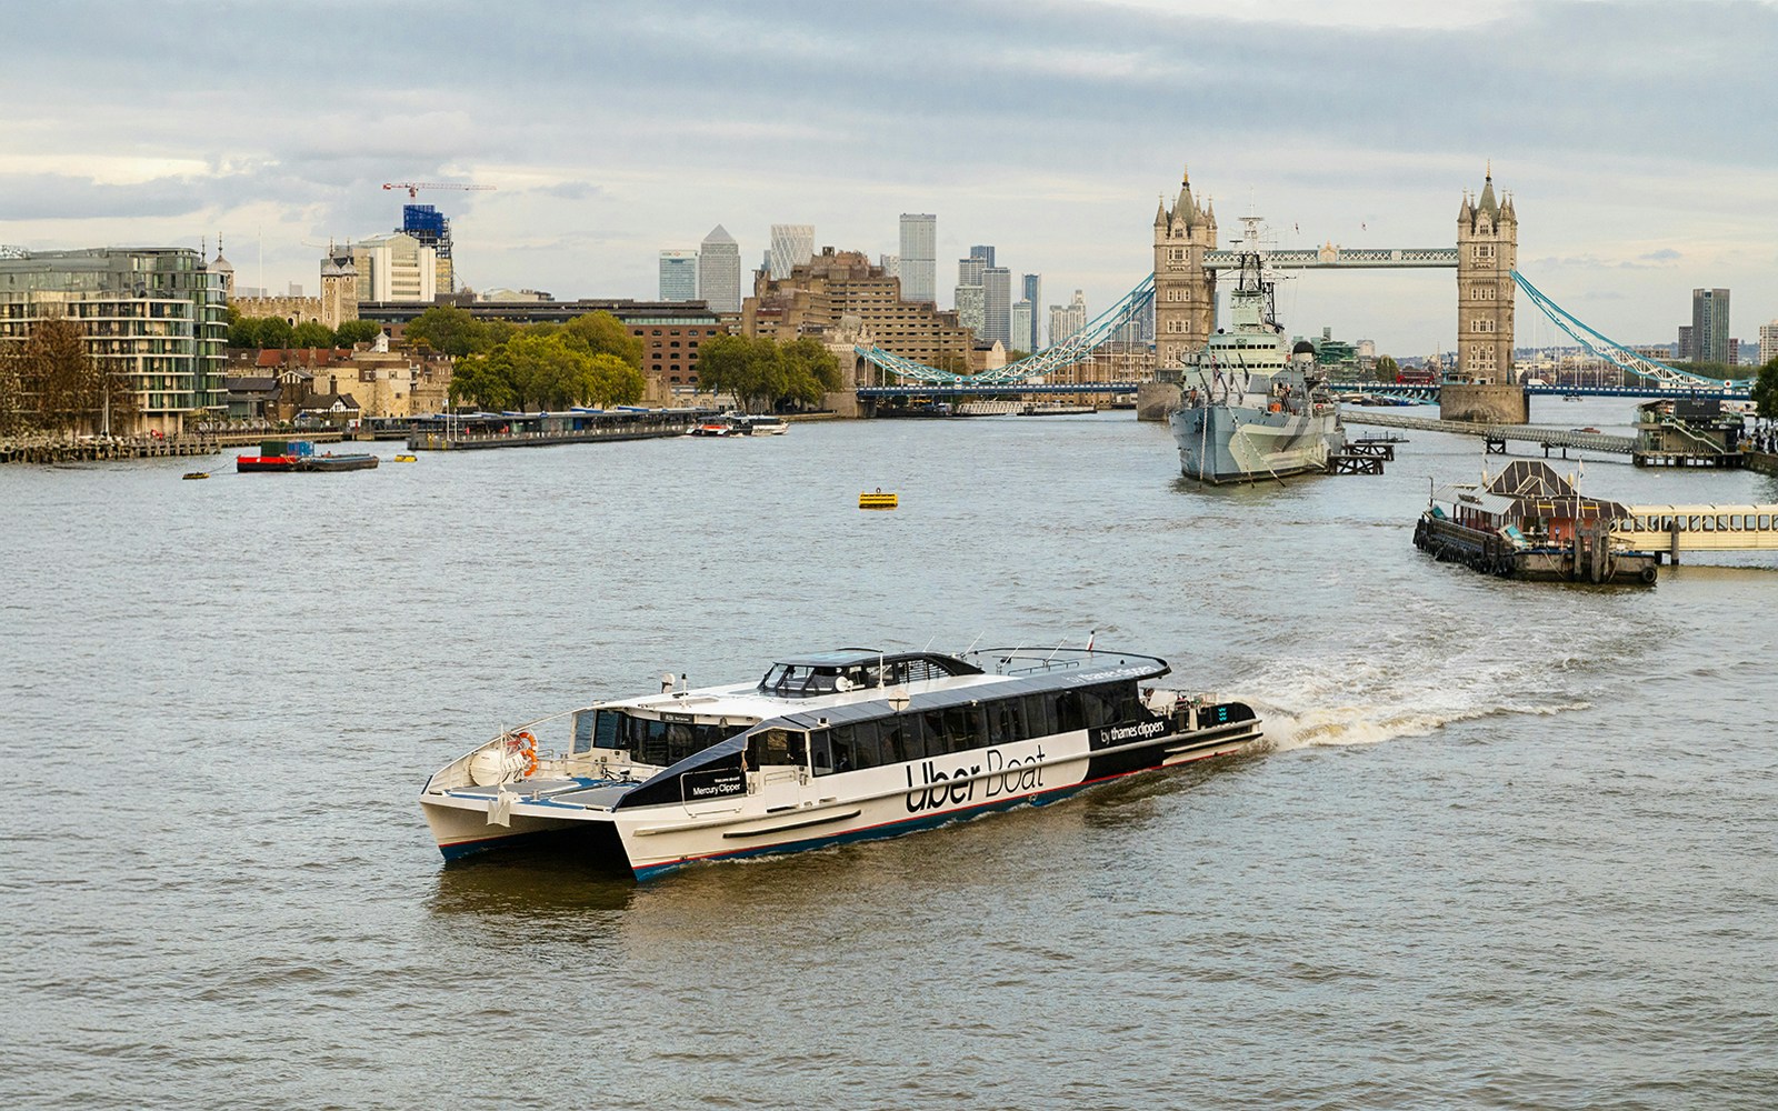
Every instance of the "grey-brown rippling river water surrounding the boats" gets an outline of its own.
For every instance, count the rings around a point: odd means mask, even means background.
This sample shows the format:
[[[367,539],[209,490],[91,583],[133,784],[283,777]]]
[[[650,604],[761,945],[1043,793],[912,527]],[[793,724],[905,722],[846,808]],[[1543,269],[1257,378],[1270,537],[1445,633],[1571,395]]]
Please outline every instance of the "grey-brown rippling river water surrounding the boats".
[[[1202,491],[1118,412],[4,468],[0,1106],[1769,1107],[1778,555],[1433,563],[1428,476],[1481,462]],[[647,885],[420,816],[665,670],[1093,629],[1269,750]]]

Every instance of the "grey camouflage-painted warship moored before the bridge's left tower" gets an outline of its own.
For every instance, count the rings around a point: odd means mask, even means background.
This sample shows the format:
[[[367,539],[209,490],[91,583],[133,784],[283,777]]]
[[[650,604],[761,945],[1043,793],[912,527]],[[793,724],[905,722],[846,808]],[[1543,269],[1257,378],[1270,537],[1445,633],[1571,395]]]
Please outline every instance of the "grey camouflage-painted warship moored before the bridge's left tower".
[[[1346,446],[1339,400],[1316,368],[1314,345],[1294,347],[1277,322],[1273,276],[1246,224],[1241,276],[1218,329],[1181,372],[1181,407],[1168,414],[1179,471],[1205,484],[1319,475]]]

